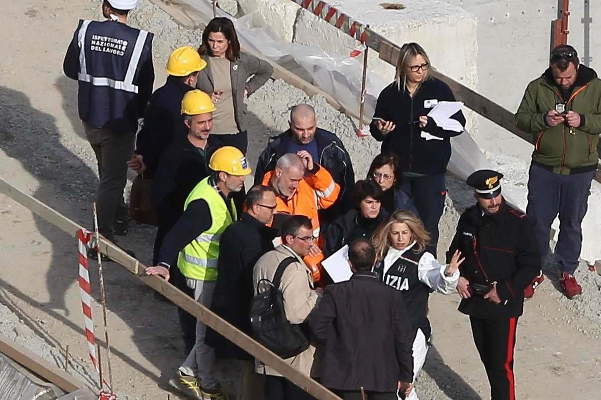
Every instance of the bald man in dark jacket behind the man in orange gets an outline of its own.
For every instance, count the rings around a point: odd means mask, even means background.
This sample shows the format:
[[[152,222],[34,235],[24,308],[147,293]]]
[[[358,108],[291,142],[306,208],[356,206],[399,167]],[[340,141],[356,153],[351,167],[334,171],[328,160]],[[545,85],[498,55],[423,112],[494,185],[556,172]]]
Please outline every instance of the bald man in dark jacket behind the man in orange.
[[[290,129],[269,139],[261,152],[255,170],[255,184],[260,184],[266,172],[273,171],[279,157],[286,153],[308,151],[313,160],[328,170],[340,185],[338,201],[326,210],[319,211],[320,225],[332,222],[350,210],[355,172],[349,153],[334,133],[317,127],[315,110],[308,104],[299,104],[290,111]]]

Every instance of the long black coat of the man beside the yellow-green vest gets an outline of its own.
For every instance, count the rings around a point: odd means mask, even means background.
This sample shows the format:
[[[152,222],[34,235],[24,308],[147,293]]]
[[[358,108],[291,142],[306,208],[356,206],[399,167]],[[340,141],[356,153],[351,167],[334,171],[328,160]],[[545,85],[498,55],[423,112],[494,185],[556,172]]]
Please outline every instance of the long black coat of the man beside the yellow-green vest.
[[[221,235],[211,311],[245,333],[251,332],[249,308],[254,295],[252,269],[262,255],[273,250],[272,240],[276,234],[275,229],[243,213],[240,220],[228,226]],[[219,357],[253,359],[246,351],[210,328],[207,328],[205,342],[215,349]]]

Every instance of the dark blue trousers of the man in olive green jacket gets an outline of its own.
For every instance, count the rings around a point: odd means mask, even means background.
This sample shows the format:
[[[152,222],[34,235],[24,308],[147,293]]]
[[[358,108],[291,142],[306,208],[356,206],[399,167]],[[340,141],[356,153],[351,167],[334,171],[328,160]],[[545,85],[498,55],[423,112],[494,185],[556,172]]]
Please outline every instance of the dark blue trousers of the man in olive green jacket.
[[[555,246],[555,261],[560,271],[573,274],[582,248],[582,219],[587,213],[588,195],[594,171],[558,175],[531,165],[528,178],[526,214],[534,222],[534,234],[543,262],[549,255],[549,232],[559,214],[560,233]]]

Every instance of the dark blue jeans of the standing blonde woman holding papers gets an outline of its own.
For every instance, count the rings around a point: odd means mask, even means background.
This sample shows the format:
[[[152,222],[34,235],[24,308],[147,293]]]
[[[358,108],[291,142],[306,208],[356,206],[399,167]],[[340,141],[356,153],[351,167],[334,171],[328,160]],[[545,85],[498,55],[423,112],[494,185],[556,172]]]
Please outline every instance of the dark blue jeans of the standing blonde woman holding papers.
[[[436,257],[438,244],[438,222],[445,207],[445,174],[403,177],[403,190],[413,198],[424,228],[430,234],[430,244],[426,247]]]

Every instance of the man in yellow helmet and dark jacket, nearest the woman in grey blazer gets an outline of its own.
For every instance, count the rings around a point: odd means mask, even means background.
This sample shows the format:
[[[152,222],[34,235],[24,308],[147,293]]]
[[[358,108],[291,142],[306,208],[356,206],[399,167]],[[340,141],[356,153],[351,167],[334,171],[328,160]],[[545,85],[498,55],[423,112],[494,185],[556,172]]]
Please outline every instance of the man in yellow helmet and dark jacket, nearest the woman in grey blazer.
[[[182,98],[196,86],[198,72],[207,66],[191,46],[175,49],[165,70],[165,85],[154,91],[148,102],[142,128],[136,137],[136,150],[127,163],[129,168],[152,179],[159,166],[160,155],[174,139],[186,135],[180,112]]]

